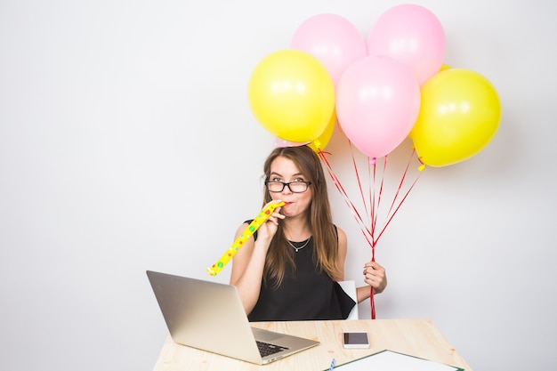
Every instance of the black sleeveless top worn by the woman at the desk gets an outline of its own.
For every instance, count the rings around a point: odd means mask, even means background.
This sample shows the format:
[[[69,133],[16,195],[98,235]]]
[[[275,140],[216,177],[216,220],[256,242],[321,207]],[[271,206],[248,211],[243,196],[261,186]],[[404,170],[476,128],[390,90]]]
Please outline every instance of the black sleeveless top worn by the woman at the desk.
[[[356,302],[325,271],[319,270],[313,261],[313,238],[297,253],[293,249],[293,254],[295,269],[287,267],[278,288],[262,281],[259,299],[247,318],[250,321],[346,319]]]

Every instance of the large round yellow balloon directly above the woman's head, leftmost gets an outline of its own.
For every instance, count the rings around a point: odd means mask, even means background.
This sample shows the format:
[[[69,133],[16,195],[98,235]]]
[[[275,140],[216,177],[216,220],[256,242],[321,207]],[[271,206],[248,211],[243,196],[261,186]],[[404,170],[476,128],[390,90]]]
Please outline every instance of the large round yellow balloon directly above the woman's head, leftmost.
[[[335,109],[335,85],[327,69],[308,52],[271,52],[255,67],[248,84],[255,118],[285,141],[313,141]]]

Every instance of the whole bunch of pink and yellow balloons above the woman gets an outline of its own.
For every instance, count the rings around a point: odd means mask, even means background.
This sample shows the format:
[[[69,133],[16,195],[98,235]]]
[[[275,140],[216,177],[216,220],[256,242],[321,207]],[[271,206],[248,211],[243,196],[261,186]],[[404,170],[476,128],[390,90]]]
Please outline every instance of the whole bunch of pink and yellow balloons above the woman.
[[[443,64],[445,48],[440,20],[420,5],[383,12],[367,39],[349,20],[318,14],[255,67],[250,107],[277,145],[319,151],[338,123],[370,160],[410,137],[424,165],[456,164],[493,138],[501,107],[488,79]]]

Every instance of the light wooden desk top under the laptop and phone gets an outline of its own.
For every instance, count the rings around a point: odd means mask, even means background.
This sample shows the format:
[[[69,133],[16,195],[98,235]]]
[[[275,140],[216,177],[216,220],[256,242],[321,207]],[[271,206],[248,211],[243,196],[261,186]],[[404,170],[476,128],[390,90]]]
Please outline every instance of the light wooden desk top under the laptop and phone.
[[[334,358],[336,365],[339,366],[385,349],[462,367],[466,371],[472,370],[430,319],[253,322],[252,326],[316,339],[321,344],[284,359],[278,359],[269,365],[258,366],[178,345],[169,336],[160,352],[154,370],[325,370],[328,369]],[[367,331],[371,347],[365,350],[343,349],[343,330]]]

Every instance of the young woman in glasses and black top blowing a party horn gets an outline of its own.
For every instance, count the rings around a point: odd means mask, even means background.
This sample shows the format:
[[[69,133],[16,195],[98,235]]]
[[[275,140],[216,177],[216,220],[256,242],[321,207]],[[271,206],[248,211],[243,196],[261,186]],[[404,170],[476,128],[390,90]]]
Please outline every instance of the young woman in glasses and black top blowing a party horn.
[[[355,304],[337,281],[344,279],[347,240],[335,226],[327,181],[307,146],[274,149],[264,164],[263,206],[284,201],[232,259],[230,284],[251,321],[344,319]],[[251,221],[239,226],[235,238]],[[387,286],[377,262],[363,267],[367,286],[358,302]]]

